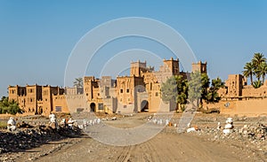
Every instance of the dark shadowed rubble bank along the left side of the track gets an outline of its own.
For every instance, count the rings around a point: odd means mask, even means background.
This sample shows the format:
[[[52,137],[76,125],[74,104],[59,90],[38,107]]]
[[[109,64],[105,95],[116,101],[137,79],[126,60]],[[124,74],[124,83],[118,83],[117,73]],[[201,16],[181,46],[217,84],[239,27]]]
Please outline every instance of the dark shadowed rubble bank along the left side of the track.
[[[20,128],[13,132],[0,132],[0,153],[28,150],[43,143],[81,135],[77,127],[53,129],[44,125],[33,128]]]

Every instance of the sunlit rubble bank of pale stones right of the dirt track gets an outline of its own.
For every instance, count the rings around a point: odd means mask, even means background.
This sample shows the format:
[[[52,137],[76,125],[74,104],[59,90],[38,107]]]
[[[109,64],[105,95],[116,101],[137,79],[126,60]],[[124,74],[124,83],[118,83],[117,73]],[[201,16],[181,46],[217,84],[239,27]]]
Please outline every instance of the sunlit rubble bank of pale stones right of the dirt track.
[[[225,130],[225,129],[223,129]],[[244,150],[258,151],[267,156],[267,125],[253,123],[241,127],[231,128],[231,133],[224,134],[218,127],[201,127],[195,135],[200,135],[212,142],[223,142]]]

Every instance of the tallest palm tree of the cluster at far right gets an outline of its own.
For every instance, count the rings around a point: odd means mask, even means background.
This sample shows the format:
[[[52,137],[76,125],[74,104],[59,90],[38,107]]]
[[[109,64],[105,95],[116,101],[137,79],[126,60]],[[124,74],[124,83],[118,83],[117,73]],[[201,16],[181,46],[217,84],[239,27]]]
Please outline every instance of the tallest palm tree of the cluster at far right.
[[[266,61],[263,53],[255,53],[254,57],[252,58],[252,64],[254,67],[254,73],[258,81],[260,81],[262,73],[260,70],[260,65]]]

